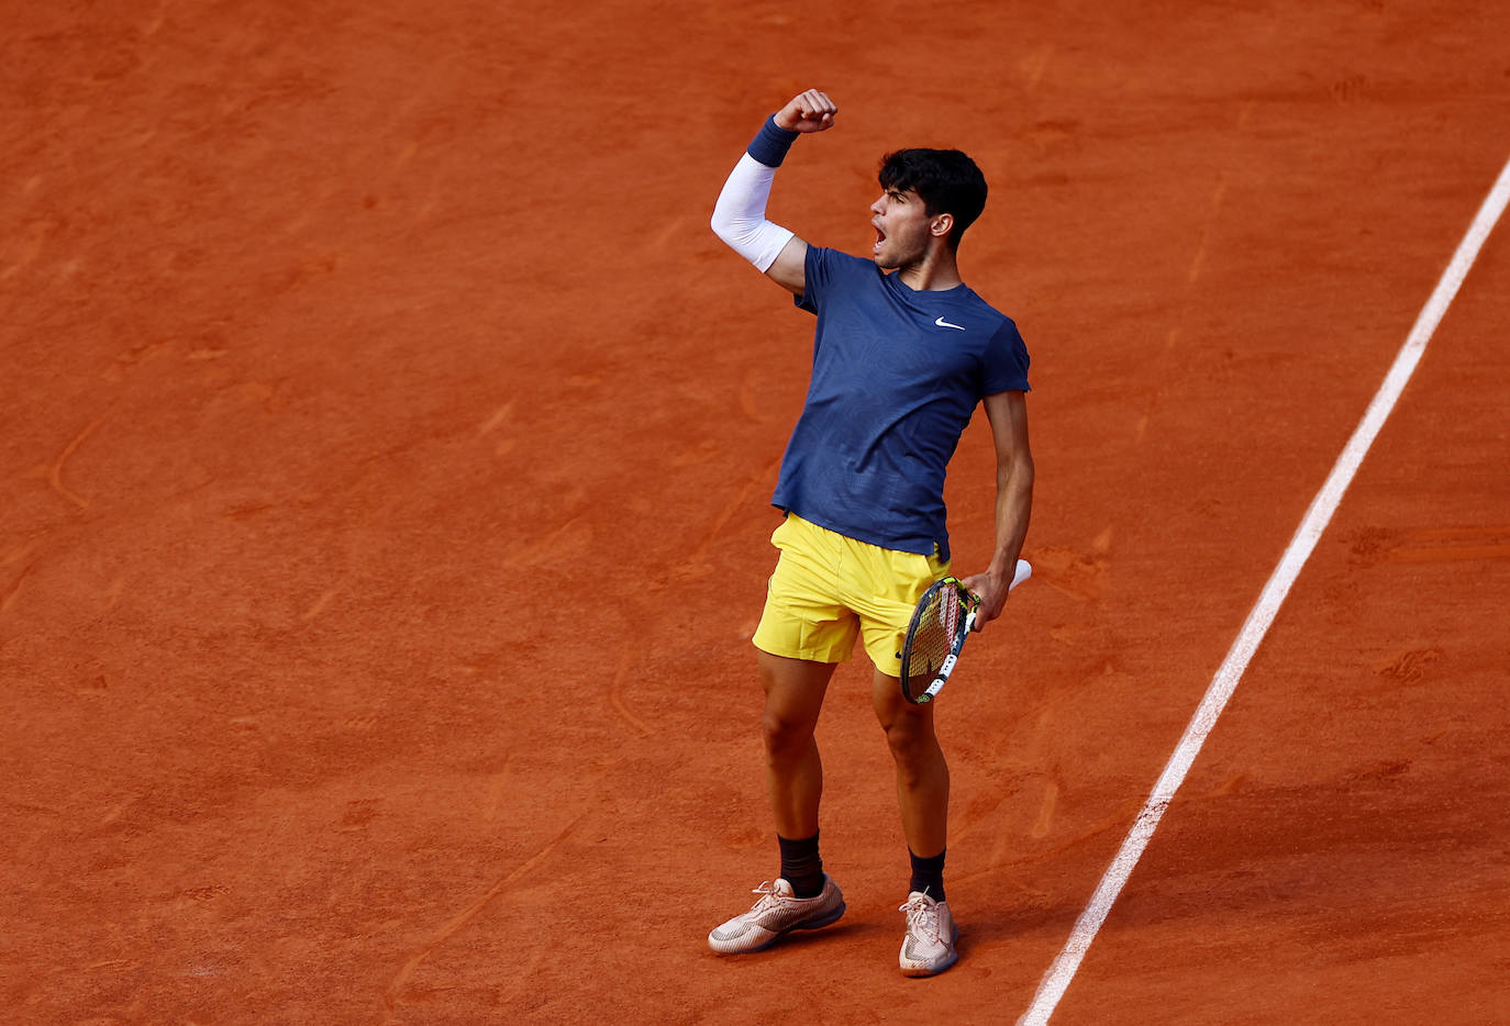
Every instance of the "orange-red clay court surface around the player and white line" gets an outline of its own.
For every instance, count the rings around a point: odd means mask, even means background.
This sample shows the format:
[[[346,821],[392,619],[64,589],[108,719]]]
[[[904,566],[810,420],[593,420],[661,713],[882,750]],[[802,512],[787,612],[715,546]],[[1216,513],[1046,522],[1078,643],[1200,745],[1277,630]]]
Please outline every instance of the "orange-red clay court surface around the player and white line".
[[[1510,6],[9,5],[6,1021],[1012,1023],[1510,157]],[[837,926],[775,874],[749,634],[812,323],[950,145],[1033,353],[1033,581],[939,706],[962,958],[897,973],[868,667]],[[1055,1024],[1510,1021],[1510,226],[1468,272]],[[983,424],[950,477],[991,537]]]

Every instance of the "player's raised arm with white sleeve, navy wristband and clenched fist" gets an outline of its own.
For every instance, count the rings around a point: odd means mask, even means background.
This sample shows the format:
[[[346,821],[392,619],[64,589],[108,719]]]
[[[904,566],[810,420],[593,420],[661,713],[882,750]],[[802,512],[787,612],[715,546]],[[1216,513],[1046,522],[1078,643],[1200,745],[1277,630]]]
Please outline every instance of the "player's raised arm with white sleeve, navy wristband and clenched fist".
[[[793,97],[772,115],[734,166],[713,208],[713,231],[773,282],[800,296],[806,288],[808,243],[766,220],[776,167],[799,134],[834,127],[838,107],[817,89]]]

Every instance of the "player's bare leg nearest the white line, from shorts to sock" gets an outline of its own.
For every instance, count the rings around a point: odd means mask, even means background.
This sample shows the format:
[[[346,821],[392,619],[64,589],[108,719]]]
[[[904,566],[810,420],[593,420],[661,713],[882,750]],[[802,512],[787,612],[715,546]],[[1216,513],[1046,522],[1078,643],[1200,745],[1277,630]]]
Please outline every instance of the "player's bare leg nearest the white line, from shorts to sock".
[[[879,670],[870,699],[897,766],[897,803],[908,846],[915,856],[938,856],[948,840],[948,762],[933,733],[933,703],[908,702],[897,677]]]

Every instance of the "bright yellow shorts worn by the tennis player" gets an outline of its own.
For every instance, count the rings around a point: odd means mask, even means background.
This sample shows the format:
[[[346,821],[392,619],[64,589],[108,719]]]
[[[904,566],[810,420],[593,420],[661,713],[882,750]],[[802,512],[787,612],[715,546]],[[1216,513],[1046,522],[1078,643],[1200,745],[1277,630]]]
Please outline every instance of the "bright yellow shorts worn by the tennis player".
[[[781,549],[752,638],[772,655],[847,662],[855,637],[876,668],[901,673],[901,641],[929,585],[948,573],[935,555],[856,542],[788,515],[772,545]]]

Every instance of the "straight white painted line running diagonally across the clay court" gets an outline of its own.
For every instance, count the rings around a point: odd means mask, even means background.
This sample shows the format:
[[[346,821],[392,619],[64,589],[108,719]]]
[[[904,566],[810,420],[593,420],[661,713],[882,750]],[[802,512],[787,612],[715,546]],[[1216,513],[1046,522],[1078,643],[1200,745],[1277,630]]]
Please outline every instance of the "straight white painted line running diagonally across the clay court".
[[[1086,905],[1086,910],[1080,913],[1080,919],[1075,920],[1075,928],[1071,931],[1063,951],[1059,952],[1054,964],[1043,973],[1037,994],[1033,996],[1033,1005],[1018,1018],[1018,1026],[1043,1026],[1065,996],[1065,988],[1069,987],[1075,970],[1080,969],[1081,960],[1084,960],[1086,952],[1090,949],[1090,942],[1096,938],[1101,923],[1105,922],[1107,913],[1111,911],[1111,904],[1122,893],[1122,887],[1132,874],[1132,868],[1154,836],[1154,830],[1158,828],[1158,821],[1164,816],[1164,810],[1169,807],[1179,785],[1184,783],[1190,765],[1196,760],[1196,754],[1199,754],[1206,735],[1216,726],[1217,717],[1222,715],[1222,709],[1226,708],[1228,699],[1237,690],[1237,682],[1241,679],[1243,671],[1247,670],[1249,661],[1273,625],[1279,607],[1285,602],[1285,596],[1290,594],[1290,585],[1296,582],[1300,567],[1311,558],[1311,551],[1320,540],[1321,531],[1326,530],[1332,513],[1336,511],[1338,504],[1342,501],[1342,493],[1347,492],[1347,486],[1351,484],[1353,475],[1368,454],[1368,448],[1374,444],[1374,438],[1385,425],[1389,412],[1395,407],[1395,401],[1404,391],[1406,382],[1410,380],[1410,374],[1415,373],[1416,364],[1421,362],[1425,344],[1431,339],[1433,332],[1436,332],[1442,315],[1447,314],[1453,297],[1457,296],[1459,287],[1468,276],[1468,269],[1478,258],[1478,250],[1483,247],[1484,240],[1489,238],[1489,232],[1499,220],[1499,214],[1504,213],[1507,202],[1510,202],[1510,161],[1499,172],[1499,180],[1495,181],[1489,198],[1478,208],[1478,216],[1474,217],[1468,234],[1457,246],[1457,252],[1453,253],[1453,263],[1442,272],[1442,279],[1436,284],[1436,290],[1421,309],[1421,315],[1416,317],[1415,327],[1410,329],[1404,346],[1400,347],[1400,353],[1395,356],[1389,374],[1385,376],[1385,383],[1368,404],[1362,422],[1353,432],[1353,438],[1348,439],[1342,454],[1338,456],[1336,465],[1332,468],[1332,474],[1321,486],[1321,490],[1311,501],[1311,508],[1306,510],[1300,528],[1290,540],[1290,548],[1285,549],[1279,566],[1274,567],[1268,584],[1264,585],[1258,602],[1247,614],[1243,631],[1228,650],[1226,659],[1223,659],[1216,677],[1211,679],[1211,687],[1206,688],[1196,715],[1190,720],[1190,726],[1185,727],[1184,736],[1175,747],[1175,754],[1170,756],[1169,765],[1164,766],[1158,783],[1154,785],[1154,794],[1143,803],[1137,822],[1132,824],[1126,839],[1122,842],[1122,848],[1111,860],[1111,866],[1101,877],[1096,892],[1090,896],[1090,904]]]

